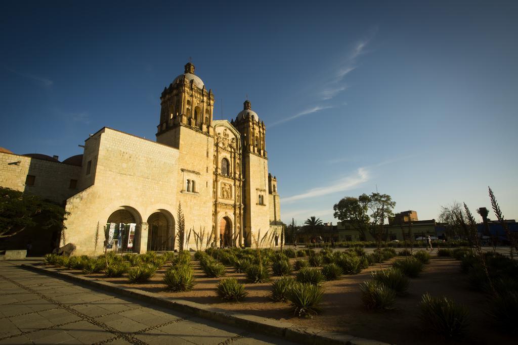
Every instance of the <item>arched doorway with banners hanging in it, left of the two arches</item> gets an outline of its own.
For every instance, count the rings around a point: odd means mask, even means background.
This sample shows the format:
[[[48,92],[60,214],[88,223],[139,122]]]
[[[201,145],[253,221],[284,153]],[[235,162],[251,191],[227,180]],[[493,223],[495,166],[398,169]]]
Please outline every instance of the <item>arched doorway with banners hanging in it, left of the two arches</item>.
[[[113,212],[106,223],[108,237],[106,249],[133,251],[136,223],[135,216],[125,208]]]

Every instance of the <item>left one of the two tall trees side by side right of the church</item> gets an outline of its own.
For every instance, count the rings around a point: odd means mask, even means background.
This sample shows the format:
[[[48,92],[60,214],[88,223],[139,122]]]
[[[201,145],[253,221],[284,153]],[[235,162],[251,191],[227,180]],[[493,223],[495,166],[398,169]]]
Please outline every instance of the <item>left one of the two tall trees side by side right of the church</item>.
[[[335,211],[333,216],[342,223],[352,224],[358,230],[359,237],[363,241],[365,241],[365,234],[369,229],[370,218],[367,215],[369,200],[367,194],[362,194],[359,198],[345,197],[333,206]]]

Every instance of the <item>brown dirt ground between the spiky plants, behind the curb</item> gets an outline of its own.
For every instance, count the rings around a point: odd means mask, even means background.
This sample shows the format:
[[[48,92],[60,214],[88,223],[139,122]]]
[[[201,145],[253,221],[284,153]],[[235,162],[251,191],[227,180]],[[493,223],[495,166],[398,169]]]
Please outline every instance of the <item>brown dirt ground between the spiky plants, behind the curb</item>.
[[[244,274],[233,273],[227,267],[225,277],[235,277],[245,284],[248,296],[239,303],[226,303],[217,296],[215,284],[223,278],[207,278],[194,261],[196,286],[189,292],[167,292],[162,283],[165,268],[157,271],[152,280],[145,284],[130,284],[122,278],[107,278],[104,274],[90,277],[111,281],[122,286],[138,288],[164,296],[210,304],[214,307],[235,310],[257,316],[292,322],[304,327],[325,329],[357,337],[376,339],[393,344],[436,344],[442,342],[419,319],[419,302],[423,293],[432,296],[447,296],[464,304],[470,312],[470,328],[464,344],[511,344],[516,343],[509,335],[502,334],[485,313],[485,296],[469,289],[467,275],[460,272],[459,262],[451,258],[436,258],[425,265],[420,277],[411,279],[408,294],[396,298],[396,309],[390,312],[367,311],[361,303],[358,284],[370,279],[370,272],[379,265],[364,269],[361,274],[342,276],[336,281],[324,282],[325,290],[322,313],[312,319],[293,317],[290,306],[273,302],[269,298],[270,283],[247,283]],[[386,262],[383,266],[389,265]],[[74,272],[74,271],[69,271]],[[79,274],[80,272],[75,271]]]

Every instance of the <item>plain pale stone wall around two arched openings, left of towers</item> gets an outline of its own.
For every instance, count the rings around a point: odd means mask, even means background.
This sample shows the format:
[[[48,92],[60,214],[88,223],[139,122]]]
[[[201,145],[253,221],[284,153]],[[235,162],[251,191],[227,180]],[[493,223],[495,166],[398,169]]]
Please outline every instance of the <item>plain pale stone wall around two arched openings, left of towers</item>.
[[[70,212],[65,221],[67,242],[77,246],[76,254],[94,253],[97,223],[102,230],[108,217],[118,209],[126,209],[135,217],[139,224],[135,251],[145,252],[148,217],[160,211],[167,218],[176,219],[178,156],[176,148],[110,128],[89,138],[84,159],[91,157],[95,164],[83,178],[93,178],[92,185],[70,197],[66,206]],[[82,185],[88,185],[84,180]],[[97,254],[102,247],[103,235]]]

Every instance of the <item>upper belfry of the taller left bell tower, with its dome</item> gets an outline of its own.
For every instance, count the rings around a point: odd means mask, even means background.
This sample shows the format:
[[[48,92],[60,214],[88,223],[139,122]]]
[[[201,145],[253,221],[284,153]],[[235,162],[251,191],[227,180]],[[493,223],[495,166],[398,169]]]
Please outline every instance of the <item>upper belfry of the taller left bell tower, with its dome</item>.
[[[170,130],[179,126],[189,127],[213,137],[212,112],[214,95],[212,90],[194,73],[195,67],[189,62],[184,66],[184,73],[165,87],[160,96],[160,123],[157,126],[156,141],[178,147],[176,140],[171,140]]]

